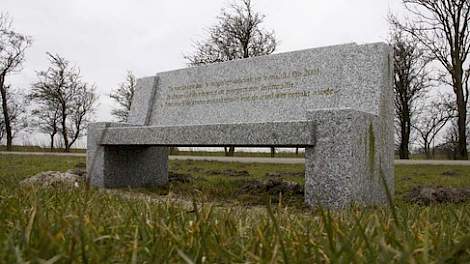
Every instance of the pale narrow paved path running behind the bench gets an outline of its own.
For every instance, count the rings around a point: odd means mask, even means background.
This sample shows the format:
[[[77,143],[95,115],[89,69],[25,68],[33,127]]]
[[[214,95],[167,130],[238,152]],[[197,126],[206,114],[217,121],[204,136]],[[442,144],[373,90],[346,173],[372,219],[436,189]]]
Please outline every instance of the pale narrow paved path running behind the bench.
[[[0,151],[0,155],[33,155],[33,156],[65,156],[85,157],[85,153],[60,153],[60,152],[6,152]],[[303,158],[261,158],[261,157],[221,157],[221,156],[170,156],[171,160],[205,160],[219,162],[240,163],[277,163],[277,164],[303,164]],[[470,166],[470,160],[395,160],[399,165],[461,165]]]

